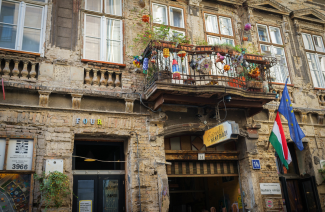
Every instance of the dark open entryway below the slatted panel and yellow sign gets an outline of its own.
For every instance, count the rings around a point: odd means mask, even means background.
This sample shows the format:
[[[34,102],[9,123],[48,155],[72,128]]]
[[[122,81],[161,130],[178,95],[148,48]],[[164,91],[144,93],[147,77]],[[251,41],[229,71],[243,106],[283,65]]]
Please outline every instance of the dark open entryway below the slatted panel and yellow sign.
[[[238,177],[169,177],[168,184],[170,212],[234,211],[241,201]]]

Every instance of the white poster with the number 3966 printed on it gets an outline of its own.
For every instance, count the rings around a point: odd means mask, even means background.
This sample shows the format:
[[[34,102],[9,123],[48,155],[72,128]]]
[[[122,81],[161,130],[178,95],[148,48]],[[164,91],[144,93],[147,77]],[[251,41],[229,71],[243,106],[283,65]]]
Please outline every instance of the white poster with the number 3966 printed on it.
[[[7,170],[32,170],[33,140],[10,139],[7,154]]]

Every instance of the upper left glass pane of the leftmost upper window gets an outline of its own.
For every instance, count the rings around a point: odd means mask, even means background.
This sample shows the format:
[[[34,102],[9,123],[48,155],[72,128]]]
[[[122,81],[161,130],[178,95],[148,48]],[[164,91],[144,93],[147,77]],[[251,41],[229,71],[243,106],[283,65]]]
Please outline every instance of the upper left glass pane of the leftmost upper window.
[[[3,1],[1,4],[0,22],[17,24],[19,4]]]

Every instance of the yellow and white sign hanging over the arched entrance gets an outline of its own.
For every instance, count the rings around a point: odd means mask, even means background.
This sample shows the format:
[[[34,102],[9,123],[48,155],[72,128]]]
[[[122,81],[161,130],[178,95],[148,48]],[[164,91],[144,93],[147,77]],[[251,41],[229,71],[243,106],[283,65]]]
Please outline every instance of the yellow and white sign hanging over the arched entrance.
[[[209,147],[230,139],[237,139],[238,134],[238,124],[234,121],[226,121],[205,131],[203,135],[203,143],[206,147]]]

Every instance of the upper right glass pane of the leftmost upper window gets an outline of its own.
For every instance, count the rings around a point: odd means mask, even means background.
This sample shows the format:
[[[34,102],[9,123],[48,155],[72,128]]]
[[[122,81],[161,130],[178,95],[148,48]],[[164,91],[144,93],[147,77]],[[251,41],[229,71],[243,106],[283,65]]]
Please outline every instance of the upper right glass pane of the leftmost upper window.
[[[42,12],[43,8],[41,7],[26,6],[25,27],[40,29],[42,27]]]

